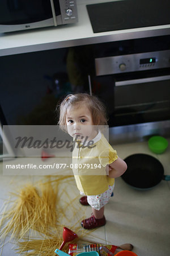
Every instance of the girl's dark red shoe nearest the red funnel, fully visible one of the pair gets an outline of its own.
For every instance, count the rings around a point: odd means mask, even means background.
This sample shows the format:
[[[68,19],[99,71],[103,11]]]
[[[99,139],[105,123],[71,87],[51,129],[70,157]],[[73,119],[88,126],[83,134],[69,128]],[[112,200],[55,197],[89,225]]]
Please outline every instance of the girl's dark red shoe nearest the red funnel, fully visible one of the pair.
[[[99,228],[99,226],[104,226],[106,224],[106,220],[104,216],[103,218],[95,218],[95,216],[92,215],[90,218],[82,220],[81,224],[84,229],[95,229]]]

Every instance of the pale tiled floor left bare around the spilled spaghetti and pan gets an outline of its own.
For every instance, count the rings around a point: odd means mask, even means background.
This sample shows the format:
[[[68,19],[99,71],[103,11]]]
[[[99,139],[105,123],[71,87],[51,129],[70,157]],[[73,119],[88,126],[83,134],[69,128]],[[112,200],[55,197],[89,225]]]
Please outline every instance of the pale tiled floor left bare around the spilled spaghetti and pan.
[[[169,139],[170,143],[170,139]],[[162,155],[155,155],[148,150],[146,142],[114,145],[118,155],[125,158],[136,153],[145,153],[158,158],[164,166],[164,174],[170,175],[170,146]],[[0,206],[9,197],[9,192],[29,181],[36,183],[40,177],[1,176]],[[78,191],[75,182],[67,185],[70,196],[76,197]],[[170,251],[170,181],[162,180],[156,187],[139,191],[129,187],[121,177],[116,179],[114,196],[105,206],[107,224],[88,235],[89,240],[112,243],[132,243],[138,256],[168,256]],[[90,216],[91,208],[79,205],[76,200],[76,219],[84,214]],[[70,221],[75,221],[75,218]],[[67,223],[64,223],[67,226]],[[69,223],[70,224],[70,223]],[[16,245],[5,241],[0,255],[15,255]]]

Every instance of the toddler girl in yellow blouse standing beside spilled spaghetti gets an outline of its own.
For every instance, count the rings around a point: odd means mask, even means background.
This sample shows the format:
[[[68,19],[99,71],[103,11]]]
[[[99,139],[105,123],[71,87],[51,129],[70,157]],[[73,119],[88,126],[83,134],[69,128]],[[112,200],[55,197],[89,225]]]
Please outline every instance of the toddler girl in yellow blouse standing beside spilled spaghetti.
[[[73,149],[73,173],[80,194],[86,195],[80,203],[92,207],[92,216],[83,220],[82,226],[85,229],[103,226],[104,205],[112,195],[114,178],[124,174],[127,168],[97,129],[107,125],[105,108],[89,94],[69,94],[61,103],[58,123],[77,144]]]

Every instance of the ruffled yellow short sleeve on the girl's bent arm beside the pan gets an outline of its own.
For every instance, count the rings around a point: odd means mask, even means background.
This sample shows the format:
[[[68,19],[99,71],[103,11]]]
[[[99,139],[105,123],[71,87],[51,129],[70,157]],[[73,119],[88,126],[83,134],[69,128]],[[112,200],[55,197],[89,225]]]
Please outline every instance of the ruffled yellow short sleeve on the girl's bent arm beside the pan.
[[[108,150],[104,150],[99,155],[99,161],[102,166],[107,166],[107,164],[113,163],[117,159],[117,152],[113,150],[113,148],[109,148]]]

